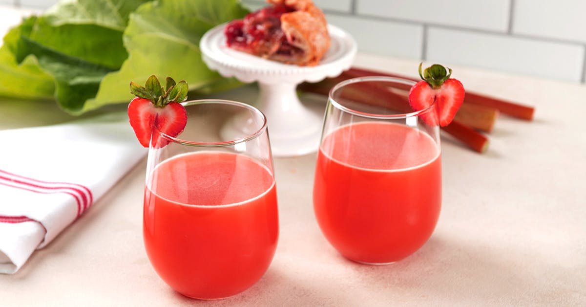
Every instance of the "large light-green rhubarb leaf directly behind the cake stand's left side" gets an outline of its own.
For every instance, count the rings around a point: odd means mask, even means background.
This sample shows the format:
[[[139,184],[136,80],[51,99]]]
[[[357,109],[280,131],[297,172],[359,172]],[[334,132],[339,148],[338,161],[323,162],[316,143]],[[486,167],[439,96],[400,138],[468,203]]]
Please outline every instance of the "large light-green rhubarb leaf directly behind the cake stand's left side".
[[[161,0],[140,6],[124,32],[128,59],[119,71],[104,77],[84,110],[130,100],[128,80],[141,84],[153,74],[186,80],[189,90],[197,93],[239,86],[207,68],[199,41],[209,29],[247,12],[237,0]]]

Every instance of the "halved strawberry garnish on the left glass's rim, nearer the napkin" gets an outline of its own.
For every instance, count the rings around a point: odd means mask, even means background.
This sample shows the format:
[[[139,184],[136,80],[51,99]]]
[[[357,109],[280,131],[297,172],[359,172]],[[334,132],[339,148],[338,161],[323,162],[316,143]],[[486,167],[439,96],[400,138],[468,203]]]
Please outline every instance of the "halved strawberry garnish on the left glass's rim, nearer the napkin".
[[[161,137],[159,131],[171,137],[183,132],[187,112],[179,102],[187,97],[188,85],[185,81],[175,83],[167,77],[166,87],[163,88],[153,75],[145,87],[131,82],[130,92],[137,97],[128,104],[128,118],[142,146],[166,146],[169,141]]]

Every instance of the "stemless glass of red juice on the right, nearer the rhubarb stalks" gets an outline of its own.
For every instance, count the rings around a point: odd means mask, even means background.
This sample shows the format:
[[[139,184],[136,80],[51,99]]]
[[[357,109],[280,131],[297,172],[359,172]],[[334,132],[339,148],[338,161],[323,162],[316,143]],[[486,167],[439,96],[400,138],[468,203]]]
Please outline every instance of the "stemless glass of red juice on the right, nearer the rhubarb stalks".
[[[344,257],[389,264],[430,238],[441,207],[435,104],[411,110],[414,82],[362,77],[332,88],[314,181],[314,211]]]

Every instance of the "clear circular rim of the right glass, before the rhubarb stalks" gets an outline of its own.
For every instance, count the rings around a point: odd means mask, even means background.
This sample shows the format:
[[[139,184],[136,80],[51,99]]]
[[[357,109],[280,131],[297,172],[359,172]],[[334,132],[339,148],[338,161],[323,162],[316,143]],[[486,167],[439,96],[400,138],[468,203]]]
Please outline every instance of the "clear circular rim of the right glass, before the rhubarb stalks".
[[[411,85],[411,86],[413,86],[413,85],[415,85],[415,83],[417,83],[414,80],[404,79],[404,78],[400,78],[400,77],[386,77],[386,76],[355,77],[352,79],[344,80],[344,81],[336,84],[334,87],[332,87],[332,89],[328,93],[328,102],[332,103],[333,106],[335,106],[339,110],[342,110],[343,112],[350,113],[350,114],[353,114],[356,116],[368,117],[371,119],[407,119],[409,117],[415,117],[421,113],[427,112],[428,110],[430,110],[432,107],[435,106],[435,100],[434,100],[434,102],[432,102],[428,107],[425,107],[424,109],[421,109],[418,111],[413,111],[413,112],[409,112],[409,113],[398,113],[398,114],[377,114],[377,113],[360,112],[360,111],[357,111],[354,109],[350,109],[349,107],[343,106],[341,103],[339,103],[335,99],[333,99],[333,93],[336,92],[336,90],[339,90],[340,88],[342,88],[344,86],[350,85],[352,83],[377,82],[377,81],[403,83],[404,85]]]

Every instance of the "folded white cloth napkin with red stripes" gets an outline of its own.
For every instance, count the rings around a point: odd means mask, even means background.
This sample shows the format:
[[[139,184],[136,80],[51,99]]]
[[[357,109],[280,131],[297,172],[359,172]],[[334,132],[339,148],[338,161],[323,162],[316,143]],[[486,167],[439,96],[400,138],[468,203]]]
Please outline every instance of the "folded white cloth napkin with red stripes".
[[[18,271],[146,153],[124,113],[0,131],[0,273]]]

